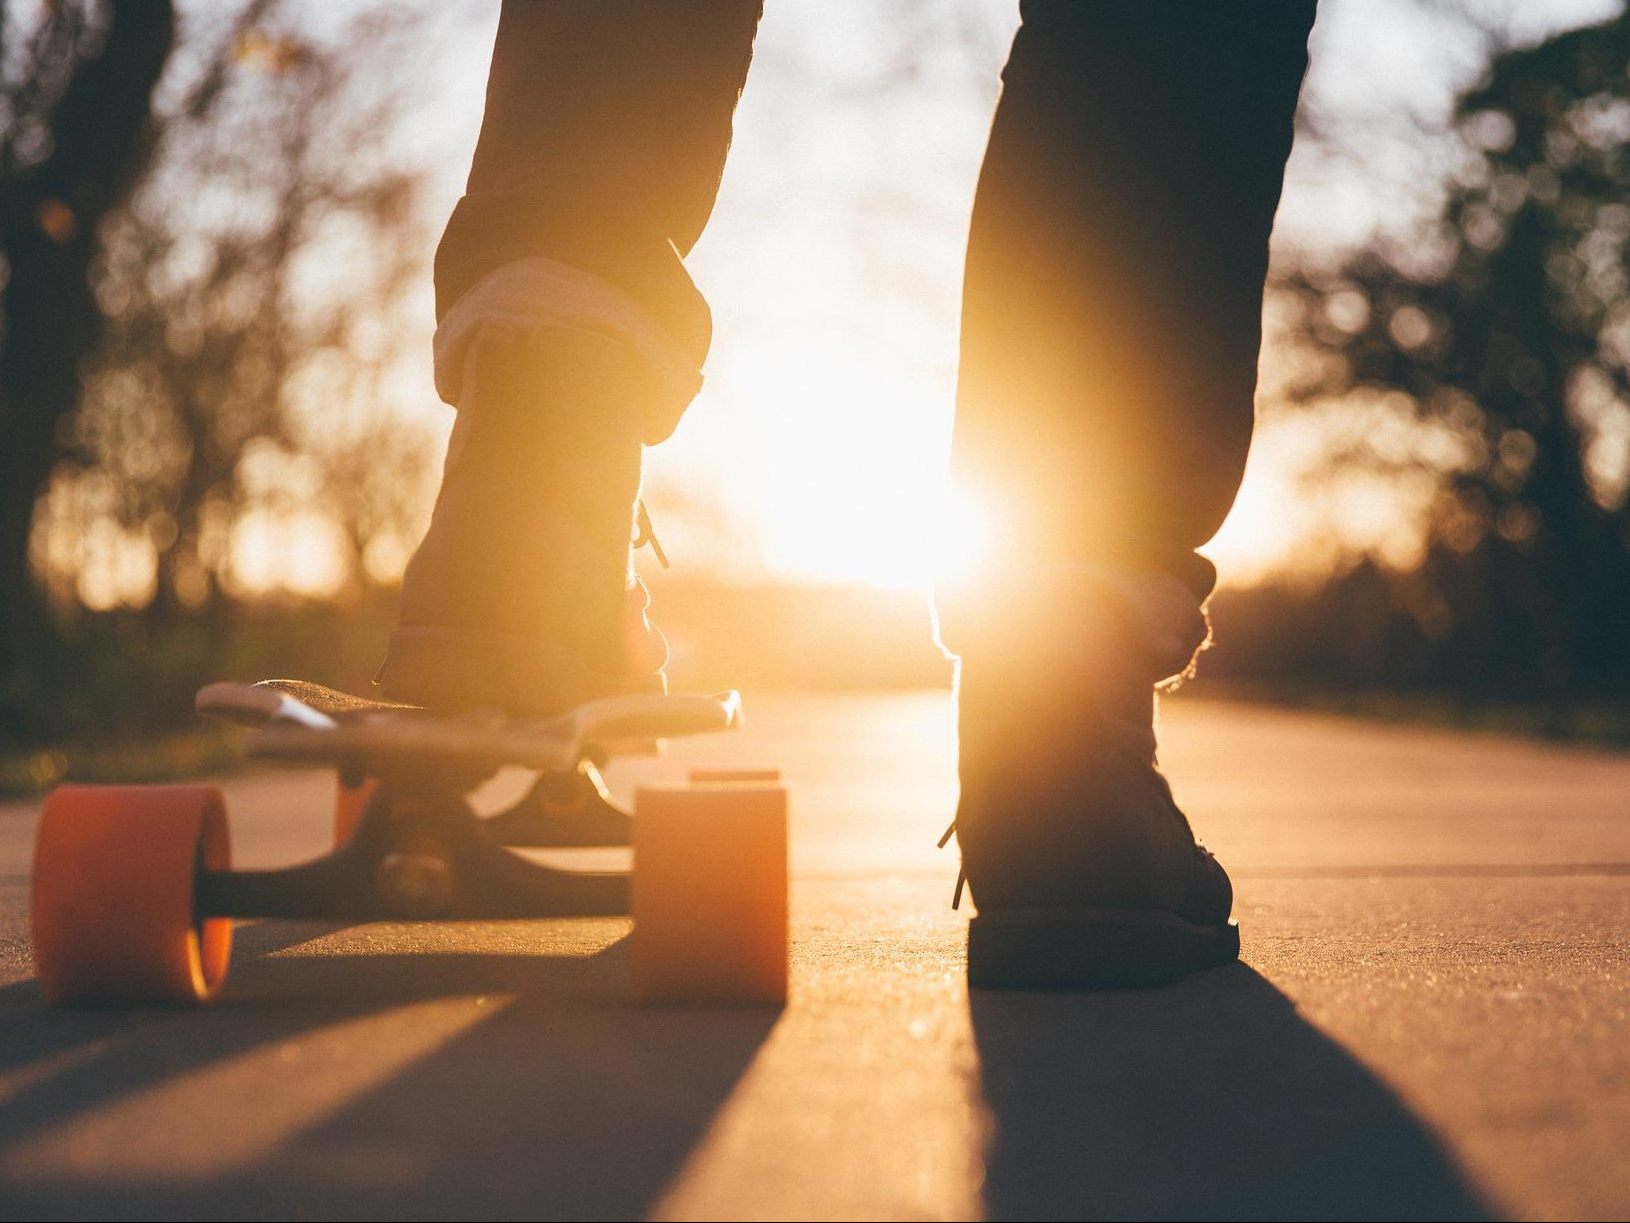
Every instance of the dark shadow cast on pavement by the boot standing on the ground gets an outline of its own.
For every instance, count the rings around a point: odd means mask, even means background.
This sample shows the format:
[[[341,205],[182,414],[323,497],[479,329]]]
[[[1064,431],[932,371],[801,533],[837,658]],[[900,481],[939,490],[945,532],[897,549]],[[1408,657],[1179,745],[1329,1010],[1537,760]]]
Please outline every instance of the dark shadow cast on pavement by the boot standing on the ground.
[[[1351,1055],[1242,964],[970,995],[993,1218],[1491,1218]]]

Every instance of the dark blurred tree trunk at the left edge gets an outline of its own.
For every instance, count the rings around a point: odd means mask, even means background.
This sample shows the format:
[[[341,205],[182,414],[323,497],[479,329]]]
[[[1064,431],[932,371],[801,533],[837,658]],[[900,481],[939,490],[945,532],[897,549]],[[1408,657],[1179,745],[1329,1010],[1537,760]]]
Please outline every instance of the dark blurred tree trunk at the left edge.
[[[99,338],[90,266],[103,219],[152,155],[152,99],[174,46],[166,0],[0,8],[0,669],[37,646],[34,502]]]

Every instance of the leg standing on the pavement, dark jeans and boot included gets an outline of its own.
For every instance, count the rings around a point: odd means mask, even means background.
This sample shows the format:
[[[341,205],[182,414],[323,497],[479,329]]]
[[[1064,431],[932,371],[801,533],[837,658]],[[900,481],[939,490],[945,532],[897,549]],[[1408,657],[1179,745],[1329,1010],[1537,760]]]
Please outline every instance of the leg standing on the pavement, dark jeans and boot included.
[[[1156,980],[1237,946],[1227,877],[1154,766],[1152,687],[1206,638],[1195,548],[1244,473],[1314,2],[1022,15],[968,241],[952,460],[1001,554],[937,592],[962,656],[970,972]]]

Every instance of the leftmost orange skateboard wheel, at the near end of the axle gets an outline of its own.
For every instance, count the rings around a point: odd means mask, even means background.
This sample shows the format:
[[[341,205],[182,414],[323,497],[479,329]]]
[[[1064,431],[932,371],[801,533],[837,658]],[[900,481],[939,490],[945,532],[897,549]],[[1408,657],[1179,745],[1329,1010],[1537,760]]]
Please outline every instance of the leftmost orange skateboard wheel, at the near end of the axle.
[[[54,1003],[199,1003],[227,978],[231,920],[194,877],[231,866],[214,786],[59,786],[34,838],[33,934]]]

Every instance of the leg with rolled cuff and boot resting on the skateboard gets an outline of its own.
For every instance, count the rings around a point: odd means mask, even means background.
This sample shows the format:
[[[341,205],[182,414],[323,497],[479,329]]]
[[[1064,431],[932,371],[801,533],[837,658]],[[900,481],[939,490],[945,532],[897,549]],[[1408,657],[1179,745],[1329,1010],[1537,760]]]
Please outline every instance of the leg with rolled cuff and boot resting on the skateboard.
[[[761,0],[507,2],[469,186],[435,261],[458,408],[403,584],[388,695],[531,713],[660,683],[629,540],[641,448],[699,383],[685,271]]]

